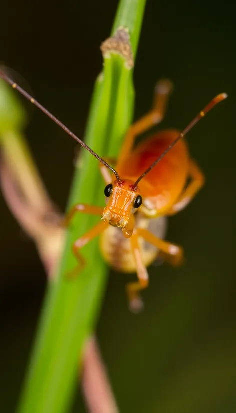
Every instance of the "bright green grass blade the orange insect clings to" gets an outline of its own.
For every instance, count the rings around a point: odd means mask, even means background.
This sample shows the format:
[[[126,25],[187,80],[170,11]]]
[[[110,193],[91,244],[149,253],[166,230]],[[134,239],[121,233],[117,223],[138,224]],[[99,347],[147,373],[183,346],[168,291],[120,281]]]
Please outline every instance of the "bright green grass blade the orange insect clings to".
[[[113,28],[129,30],[134,55],[144,6],[145,0],[121,0]],[[117,156],[131,121],[133,98],[132,70],[123,57],[111,53],[95,84],[85,137],[99,155]],[[85,150],[81,154],[82,167],[75,171],[68,207],[77,202],[104,205],[98,162]],[[82,249],[87,266],[79,276],[68,280],[66,273],[76,265],[72,243],[97,221],[78,215],[68,230],[58,273],[48,285],[19,413],[64,413],[70,407],[84,345],[94,331],[105,289],[107,268],[98,239]]]

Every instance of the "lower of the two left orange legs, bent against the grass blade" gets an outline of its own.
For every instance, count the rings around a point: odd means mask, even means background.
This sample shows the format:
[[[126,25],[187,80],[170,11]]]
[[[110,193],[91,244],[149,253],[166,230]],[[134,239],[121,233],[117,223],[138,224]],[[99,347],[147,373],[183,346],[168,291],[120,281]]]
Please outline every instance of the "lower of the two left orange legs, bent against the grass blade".
[[[78,238],[74,244],[73,244],[73,253],[75,257],[77,258],[79,265],[75,267],[70,273],[69,277],[76,275],[81,269],[84,268],[86,265],[86,260],[85,258],[81,255],[80,249],[86,245],[88,242],[90,242],[93,238],[96,236],[100,235],[109,225],[108,222],[101,221],[97,225],[93,226],[89,231],[87,231],[83,236]]]

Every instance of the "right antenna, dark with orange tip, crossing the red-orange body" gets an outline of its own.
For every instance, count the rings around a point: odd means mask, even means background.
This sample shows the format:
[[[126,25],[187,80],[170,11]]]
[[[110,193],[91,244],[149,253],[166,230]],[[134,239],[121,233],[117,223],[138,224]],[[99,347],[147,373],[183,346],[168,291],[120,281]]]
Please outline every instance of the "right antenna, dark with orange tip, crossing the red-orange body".
[[[228,95],[226,93],[221,93],[218,94],[218,96],[216,96],[214,99],[212,99],[207,106],[204,107],[203,110],[200,111],[200,113],[198,113],[198,115],[191,121],[191,123],[189,123],[189,125],[187,127],[185,127],[185,129],[180,133],[180,135],[178,135],[178,137],[176,137],[176,139],[170,143],[170,145],[163,151],[163,153],[152,163],[152,165],[149,166],[148,169],[146,169],[146,171],[136,180],[136,182],[134,183],[133,187],[136,187],[138,185],[138,183],[140,182],[140,180],[142,178],[144,178],[144,176],[147,175],[147,173],[149,173],[151,171],[151,169],[153,169],[154,166],[157,165],[157,163],[159,163],[161,161],[161,159],[170,151],[170,149],[172,149],[172,147],[174,145],[176,145],[176,143],[183,138],[183,136],[185,136],[189,130],[191,130],[193,128],[193,126],[195,126],[196,123],[199,122],[199,120],[204,117],[206,115],[206,113],[208,113],[214,106],[216,106],[216,104],[218,104],[219,102],[221,102],[222,100],[226,99],[228,97]]]

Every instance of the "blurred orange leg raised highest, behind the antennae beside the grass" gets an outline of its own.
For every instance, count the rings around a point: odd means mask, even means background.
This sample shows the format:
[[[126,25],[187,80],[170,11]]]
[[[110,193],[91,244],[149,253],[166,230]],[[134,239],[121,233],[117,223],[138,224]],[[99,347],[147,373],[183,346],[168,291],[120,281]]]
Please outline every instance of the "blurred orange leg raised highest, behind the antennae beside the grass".
[[[162,121],[172,88],[172,83],[167,79],[160,80],[156,84],[153,108],[128,129],[118,159],[118,166],[116,166],[117,169],[119,169],[119,164],[129,156],[136,137]]]

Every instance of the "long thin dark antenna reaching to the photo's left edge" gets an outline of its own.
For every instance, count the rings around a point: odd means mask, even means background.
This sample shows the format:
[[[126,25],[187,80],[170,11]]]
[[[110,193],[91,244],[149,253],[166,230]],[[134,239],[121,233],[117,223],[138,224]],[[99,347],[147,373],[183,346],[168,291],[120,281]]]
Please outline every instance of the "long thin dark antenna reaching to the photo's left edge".
[[[108,163],[106,163],[100,156],[98,156],[89,146],[86,145],[79,137],[77,137],[71,130],[69,130],[60,120],[58,120],[53,114],[51,114],[44,106],[42,106],[37,100],[35,100],[29,93],[27,93],[24,89],[22,89],[18,84],[16,84],[12,79],[10,79],[2,70],[0,70],[0,77],[9,83],[13,89],[18,90],[27,100],[29,100],[32,104],[38,107],[43,113],[45,113],[51,120],[53,120],[58,126],[60,126],[68,135],[70,135],[76,142],[78,142],[81,146],[85,147],[95,158],[97,158],[103,165],[105,165],[108,169],[110,169],[116,176],[118,183],[121,185],[122,181],[116,172]]]

